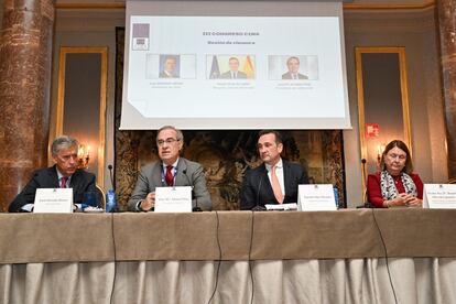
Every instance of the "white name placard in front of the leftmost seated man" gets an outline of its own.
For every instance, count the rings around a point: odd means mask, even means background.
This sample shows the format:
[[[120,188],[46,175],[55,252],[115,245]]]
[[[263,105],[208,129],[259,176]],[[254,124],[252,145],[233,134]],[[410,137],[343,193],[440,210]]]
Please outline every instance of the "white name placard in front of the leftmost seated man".
[[[73,188],[37,188],[33,213],[73,213]]]

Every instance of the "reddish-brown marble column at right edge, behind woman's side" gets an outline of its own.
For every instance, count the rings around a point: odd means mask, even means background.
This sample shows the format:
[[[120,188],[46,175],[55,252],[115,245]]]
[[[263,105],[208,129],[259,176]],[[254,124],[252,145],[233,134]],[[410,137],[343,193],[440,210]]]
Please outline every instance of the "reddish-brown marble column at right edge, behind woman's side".
[[[456,2],[437,0],[444,85],[448,178],[456,178]]]

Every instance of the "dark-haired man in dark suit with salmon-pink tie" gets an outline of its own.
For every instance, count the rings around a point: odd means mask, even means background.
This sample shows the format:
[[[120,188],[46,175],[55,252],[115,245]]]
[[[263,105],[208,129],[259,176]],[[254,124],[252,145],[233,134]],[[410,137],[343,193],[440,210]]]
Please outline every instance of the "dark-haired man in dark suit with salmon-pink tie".
[[[307,172],[300,164],[282,160],[282,150],[279,132],[263,130],[259,133],[258,152],[264,163],[243,177],[241,210],[265,204],[297,203],[297,186],[308,184]]]

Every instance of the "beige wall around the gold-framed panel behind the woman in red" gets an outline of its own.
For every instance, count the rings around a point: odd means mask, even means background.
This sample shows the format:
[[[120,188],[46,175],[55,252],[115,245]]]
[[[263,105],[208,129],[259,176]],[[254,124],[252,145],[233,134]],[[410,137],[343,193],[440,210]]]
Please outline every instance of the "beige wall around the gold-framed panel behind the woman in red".
[[[415,171],[425,183],[447,181],[444,107],[438,40],[433,9],[422,11],[345,11],[348,91],[352,131],[344,131],[348,202],[357,185],[355,166],[360,167],[358,106],[355,69],[356,46],[404,46],[409,85],[411,138]],[[388,88],[384,88],[388,89]],[[391,109],[384,108],[384,113]],[[380,132],[381,132],[381,121]],[[351,144],[350,144],[351,143]],[[356,143],[356,144],[355,144]],[[350,171],[350,172],[349,172]],[[351,194],[351,196],[350,196]]]

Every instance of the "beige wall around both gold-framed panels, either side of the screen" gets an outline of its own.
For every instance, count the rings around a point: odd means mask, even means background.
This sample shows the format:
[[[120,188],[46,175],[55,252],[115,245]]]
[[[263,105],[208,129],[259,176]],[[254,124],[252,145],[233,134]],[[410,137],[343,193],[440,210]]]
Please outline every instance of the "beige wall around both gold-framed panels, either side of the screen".
[[[124,25],[122,10],[57,10],[54,39],[51,135],[55,133],[55,108],[61,46],[108,46],[106,164],[113,160],[115,28]],[[416,171],[427,183],[446,181],[444,110],[441,72],[432,9],[409,12],[345,11],[348,90],[352,130],[344,131],[348,207],[362,199],[355,46],[405,46],[412,142]],[[105,187],[109,187],[105,171]]]

